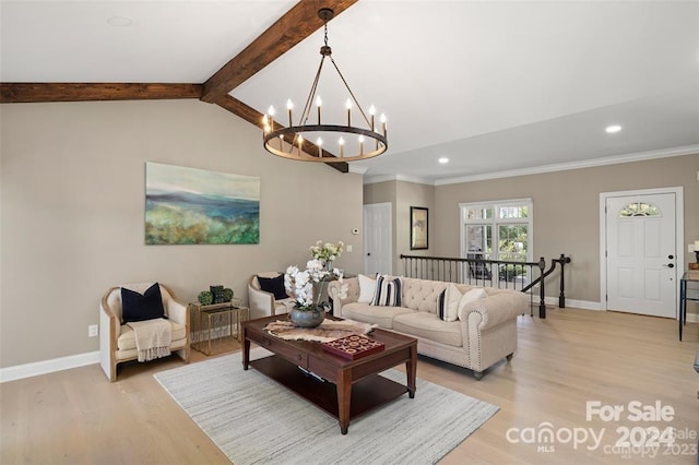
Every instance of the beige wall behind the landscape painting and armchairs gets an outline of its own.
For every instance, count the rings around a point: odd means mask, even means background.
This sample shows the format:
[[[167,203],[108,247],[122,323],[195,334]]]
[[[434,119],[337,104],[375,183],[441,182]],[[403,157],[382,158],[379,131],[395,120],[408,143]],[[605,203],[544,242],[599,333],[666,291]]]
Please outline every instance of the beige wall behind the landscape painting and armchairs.
[[[7,104],[0,118],[1,368],[97,350],[87,325],[109,286],[161,281],[192,301],[222,284],[247,299],[251,274],[304,265],[318,239],[362,250],[360,175],[270,155],[216,106]],[[260,243],[145,246],[145,162],[260,177]],[[362,255],[336,264],[360,272]]]

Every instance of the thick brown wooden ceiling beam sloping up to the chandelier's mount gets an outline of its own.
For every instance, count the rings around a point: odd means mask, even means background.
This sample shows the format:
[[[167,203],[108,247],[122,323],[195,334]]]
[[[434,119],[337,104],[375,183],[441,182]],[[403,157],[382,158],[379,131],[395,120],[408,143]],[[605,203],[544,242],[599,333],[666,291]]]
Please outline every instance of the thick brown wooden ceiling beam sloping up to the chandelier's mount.
[[[211,104],[280,58],[292,47],[318,31],[323,21],[321,8],[331,8],[335,16],[358,0],[301,0],[254,39],[240,53],[223,65],[204,83],[203,102]]]

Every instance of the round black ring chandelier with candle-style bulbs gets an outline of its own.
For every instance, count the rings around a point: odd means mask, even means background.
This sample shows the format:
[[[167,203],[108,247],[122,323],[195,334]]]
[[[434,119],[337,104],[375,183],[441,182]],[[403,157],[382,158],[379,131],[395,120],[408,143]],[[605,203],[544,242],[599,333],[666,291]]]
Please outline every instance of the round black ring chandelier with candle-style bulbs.
[[[323,8],[318,11],[318,16],[324,22],[324,45],[320,48],[322,58],[320,59],[320,65],[316,72],[316,79],[308,94],[306,106],[304,107],[298,124],[294,126],[293,122],[294,104],[291,99],[286,102],[288,127],[285,128],[274,120],[275,110],[273,106],[270,106],[268,114],[262,118],[264,148],[274,155],[304,162],[339,163],[371,158],[381,155],[388,148],[386,116],[381,115],[379,117],[378,123],[380,123],[381,127],[379,131],[376,124],[376,109],[374,105],[369,108],[369,118],[367,118],[364,109],[350,88],[350,85],[340,72],[335,60],[333,60],[331,56],[332,50],[328,46],[328,22],[332,20],[333,15],[334,12],[329,8]],[[346,124],[325,124],[321,120],[322,99],[316,95],[316,93],[325,58],[330,58],[330,61],[350,94],[345,103],[347,110]],[[308,120],[313,104],[317,108],[317,121],[316,124],[312,124],[311,120],[309,124]],[[360,120],[366,122],[366,128],[352,126],[352,111],[354,107],[358,109],[362,116]],[[324,147],[328,148],[325,150]],[[339,155],[331,153],[335,150],[335,153],[339,153]]]

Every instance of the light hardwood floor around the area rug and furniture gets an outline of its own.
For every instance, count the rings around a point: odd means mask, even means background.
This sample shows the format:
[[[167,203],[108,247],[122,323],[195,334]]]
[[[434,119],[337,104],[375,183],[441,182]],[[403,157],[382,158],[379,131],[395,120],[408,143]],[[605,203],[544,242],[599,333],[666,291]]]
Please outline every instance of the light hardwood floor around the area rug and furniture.
[[[674,320],[550,309],[546,320],[519,318],[512,361],[498,363],[482,381],[467,370],[420,358],[418,377],[500,407],[440,463],[696,464],[699,373],[692,362],[698,342],[699,324],[687,325],[680,343]],[[192,362],[206,359],[192,354]],[[153,378],[178,366],[175,357],[127,365],[116,383],[94,365],[1,384],[0,462],[229,463]],[[597,415],[587,420],[587,403],[595,401],[604,410],[620,405],[624,412],[616,421]],[[649,415],[661,403],[674,410],[673,418],[632,421],[632,402]],[[544,431],[546,422],[554,441],[529,441],[528,433]],[[640,441],[650,440],[653,427],[673,427],[694,439],[676,439],[654,457],[611,449],[625,439],[625,428],[630,440]],[[582,440],[583,431],[602,434],[601,444],[595,448],[591,437],[577,446],[569,441],[570,434]]]

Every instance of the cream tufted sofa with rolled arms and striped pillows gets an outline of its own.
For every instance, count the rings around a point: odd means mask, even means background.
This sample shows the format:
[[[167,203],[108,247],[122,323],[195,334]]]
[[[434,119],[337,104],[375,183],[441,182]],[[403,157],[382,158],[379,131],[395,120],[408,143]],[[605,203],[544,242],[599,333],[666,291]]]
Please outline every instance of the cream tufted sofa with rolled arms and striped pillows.
[[[498,360],[510,360],[517,349],[517,317],[529,311],[529,298],[511,289],[486,287],[487,297],[465,305],[453,322],[437,315],[437,299],[449,283],[401,278],[402,307],[357,302],[358,279],[346,278],[347,298],[340,299],[339,282],[330,283],[335,317],[378,324],[417,338],[417,353],[474,371],[477,380]],[[475,286],[457,285],[466,293]]]

